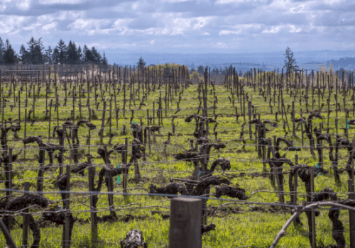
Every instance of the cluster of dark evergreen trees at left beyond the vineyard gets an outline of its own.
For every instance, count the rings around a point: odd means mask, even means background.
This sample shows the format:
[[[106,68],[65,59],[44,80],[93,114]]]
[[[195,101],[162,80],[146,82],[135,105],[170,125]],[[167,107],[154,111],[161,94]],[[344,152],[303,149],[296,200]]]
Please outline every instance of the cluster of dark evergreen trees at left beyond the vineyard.
[[[102,64],[107,65],[108,60],[105,55],[101,55],[93,46],[91,49],[84,45],[83,49],[80,45],[77,47],[74,41],[70,40],[66,45],[60,39],[58,45],[54,48],[43,46],[42,38],[31,39],[25,45],[21,45],[19,54],[13,50],[9,39],[5,43],[0,38],[0,64],[15,64],[22,62],[23,64]]]

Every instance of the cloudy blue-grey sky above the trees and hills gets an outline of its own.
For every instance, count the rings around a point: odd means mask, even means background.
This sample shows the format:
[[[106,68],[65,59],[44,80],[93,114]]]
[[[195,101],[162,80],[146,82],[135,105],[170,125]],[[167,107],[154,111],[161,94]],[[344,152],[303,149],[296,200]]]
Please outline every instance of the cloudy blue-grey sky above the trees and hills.
[[[353,0],[0,0],[0,37],[107,53],[355,50]]]

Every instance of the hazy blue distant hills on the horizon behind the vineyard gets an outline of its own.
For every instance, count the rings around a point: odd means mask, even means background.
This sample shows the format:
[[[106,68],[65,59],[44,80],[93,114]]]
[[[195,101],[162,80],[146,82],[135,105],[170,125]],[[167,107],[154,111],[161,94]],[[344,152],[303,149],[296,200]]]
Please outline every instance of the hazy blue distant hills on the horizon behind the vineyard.
[[[285,56],[284,51],[280,52],[253,52],[253,53],[206,53],[206,54],[182,54],[182,53],[153,53],[143,50],[106,50],[106,55],[110,64],[133,65],[138,62],[139,57],[147,64],[185,64],[189,68],[198,66],[209,66],[220,68],[236,64],[239,69],[244,70],[249,67],[260,69],[281,69]],[[320,64],[332,62],[334,69],[355,69],[355,50],[347,51],[307,51],[294,52],[297,64],[302,68],[318,69]],[[354,58],[351,58],[354,57]],[[241,63],[241,64],[239,64]],[[352,65],[354,64],[354,66]],[[346,67],[346,68],[345,68]],[[239,70],[238,69],[238,70]]]

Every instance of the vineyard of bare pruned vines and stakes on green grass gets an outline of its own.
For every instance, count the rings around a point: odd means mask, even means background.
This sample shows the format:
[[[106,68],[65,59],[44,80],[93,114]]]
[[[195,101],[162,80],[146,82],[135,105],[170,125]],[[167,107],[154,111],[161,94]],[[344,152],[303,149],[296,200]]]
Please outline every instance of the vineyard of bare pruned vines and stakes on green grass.
[[[0,215],[16,247],[355,247],[355,87],[337,72],[0,68]],[[12,247],[1,232],[0,247]]]

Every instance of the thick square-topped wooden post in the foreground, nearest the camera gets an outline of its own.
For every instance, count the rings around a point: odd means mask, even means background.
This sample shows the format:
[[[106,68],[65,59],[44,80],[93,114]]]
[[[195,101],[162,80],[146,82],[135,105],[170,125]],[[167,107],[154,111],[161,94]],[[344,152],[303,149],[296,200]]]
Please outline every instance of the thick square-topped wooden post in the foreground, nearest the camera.
[[[170,207],[169,248],[201,248],[201,222],[201,199],[172,198]]]

